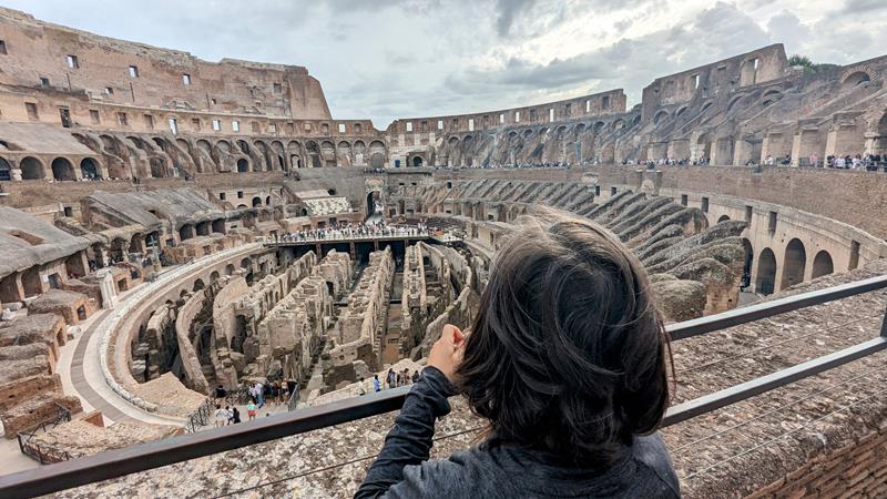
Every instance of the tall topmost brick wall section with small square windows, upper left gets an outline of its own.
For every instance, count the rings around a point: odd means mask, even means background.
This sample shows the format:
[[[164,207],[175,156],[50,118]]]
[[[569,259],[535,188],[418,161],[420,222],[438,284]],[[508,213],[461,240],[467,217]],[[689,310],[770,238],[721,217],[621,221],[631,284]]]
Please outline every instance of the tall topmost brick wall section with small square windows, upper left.
[[[186,103],[184,109],[329,118],[317,80],[303,67],[223,59],[99,37],[0,11],[6,41],[2,81],[78,92],[101,102],[139,106]],[[72,59],[73,58],[73,59]],[[131,69],[133,68],[133,69]],[[58,112],[57,112],[58,113]]]

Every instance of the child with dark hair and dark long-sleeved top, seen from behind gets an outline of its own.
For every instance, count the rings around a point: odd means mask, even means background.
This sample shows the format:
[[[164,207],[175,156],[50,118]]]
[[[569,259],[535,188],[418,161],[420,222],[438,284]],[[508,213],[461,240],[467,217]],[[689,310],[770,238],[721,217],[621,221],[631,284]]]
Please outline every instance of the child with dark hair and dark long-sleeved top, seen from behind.
[[[656,434],[670,363],[638,257],[591,221],[544,213],[495,257],[471,334],[443,327],[355,498],[677,498]],[[429,460],[456,394],[487,432]]]

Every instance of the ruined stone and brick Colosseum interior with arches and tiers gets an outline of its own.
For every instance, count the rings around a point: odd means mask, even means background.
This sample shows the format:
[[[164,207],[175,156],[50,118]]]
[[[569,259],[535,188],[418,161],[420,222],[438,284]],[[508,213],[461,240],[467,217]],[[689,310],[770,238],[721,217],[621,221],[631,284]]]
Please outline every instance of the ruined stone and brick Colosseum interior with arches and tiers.
[[[772,44],[639,103],[615,89],[380,130],[333,119],[303,67],[9,9],[0,39],[4,473],[222,431],[220,389],[243,409],[246,387],[283,383],[262,416],[286,418],[421,369],[538,206],[614,233],[672,326],[887,273],[887,55],[805,73]],[[876,288],[675,340],[674,404],[885,336],[886,304]],[[667,426],[683,493],[887,497],[885,359]],[[480,429],[453,405],[434,456]],[[62,497],[348,497],[392,419]]]

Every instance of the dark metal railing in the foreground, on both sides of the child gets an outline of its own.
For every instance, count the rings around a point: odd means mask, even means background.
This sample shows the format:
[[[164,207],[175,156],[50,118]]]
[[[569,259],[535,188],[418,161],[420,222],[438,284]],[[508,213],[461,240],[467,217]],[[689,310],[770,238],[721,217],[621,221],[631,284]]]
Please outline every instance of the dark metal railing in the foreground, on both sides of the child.
[[[666,330],[672,339],[680,340],[885,288],[887,288],[887,275],[672,324],[666,327]],[[880,334],[876,338],[672,406],[665,415],[663,426],[711,413],[885,349],[887,349],[887,323],[881,322]],[[323,406],[287,411],[242,425],[230,425],[187,434],[2,476],[0,477],[0,497],[31,497],[57,492],[247,445],[378,416],[398,410],[402,406],[408,390],[409,387],[394,388]]]

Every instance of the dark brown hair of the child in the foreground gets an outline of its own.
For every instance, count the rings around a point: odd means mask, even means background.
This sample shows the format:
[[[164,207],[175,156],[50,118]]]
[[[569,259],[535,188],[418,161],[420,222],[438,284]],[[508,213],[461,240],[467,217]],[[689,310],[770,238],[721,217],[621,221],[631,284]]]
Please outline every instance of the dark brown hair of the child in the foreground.
[[[526,217],[496,256],[456,384],[489,445],[606,466],[669,406],[662,319],[640,261],[595,223]]]

